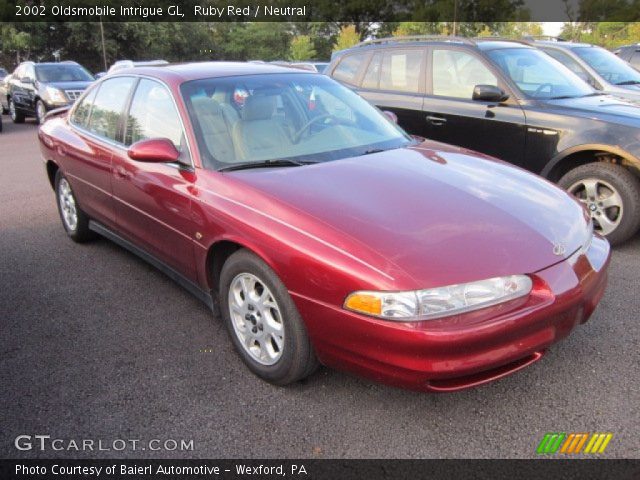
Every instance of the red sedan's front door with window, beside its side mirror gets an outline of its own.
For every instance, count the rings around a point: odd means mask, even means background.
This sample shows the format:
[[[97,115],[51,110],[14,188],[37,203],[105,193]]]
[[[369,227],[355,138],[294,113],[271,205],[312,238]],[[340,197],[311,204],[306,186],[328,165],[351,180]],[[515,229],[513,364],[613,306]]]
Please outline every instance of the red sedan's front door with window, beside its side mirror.
[[[187,278],[195,278],[190,187],[195,181],[184,127],[162,83],[141,78],[128,106],[122,148],[113,156],[113,195],[118,229]],[[131,160],[127,147],[167,138],[181,152],[179,163]]]

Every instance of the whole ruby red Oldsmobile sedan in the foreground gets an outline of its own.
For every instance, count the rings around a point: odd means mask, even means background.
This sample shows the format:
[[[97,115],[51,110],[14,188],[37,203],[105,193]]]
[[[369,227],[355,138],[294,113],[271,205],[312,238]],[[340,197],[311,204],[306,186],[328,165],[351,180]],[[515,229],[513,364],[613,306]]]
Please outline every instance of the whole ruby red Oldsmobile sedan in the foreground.
[[[62,224],[219,306],[247,366],[426,391],[520,370],[584,323],[609,245],[564,191],[413,139],[328,77],[121,70],[39,133]]]

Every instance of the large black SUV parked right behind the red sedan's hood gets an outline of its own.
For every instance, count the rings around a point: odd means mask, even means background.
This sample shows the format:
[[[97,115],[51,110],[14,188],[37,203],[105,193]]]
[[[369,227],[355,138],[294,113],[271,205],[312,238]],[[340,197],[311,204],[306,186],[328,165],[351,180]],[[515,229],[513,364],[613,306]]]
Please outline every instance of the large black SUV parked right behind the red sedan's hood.
[[[334,53],[325,73],[395,113],[409,133],[559,183],[613,244],[640,227],[640,107],[525,42],[379,39]]]

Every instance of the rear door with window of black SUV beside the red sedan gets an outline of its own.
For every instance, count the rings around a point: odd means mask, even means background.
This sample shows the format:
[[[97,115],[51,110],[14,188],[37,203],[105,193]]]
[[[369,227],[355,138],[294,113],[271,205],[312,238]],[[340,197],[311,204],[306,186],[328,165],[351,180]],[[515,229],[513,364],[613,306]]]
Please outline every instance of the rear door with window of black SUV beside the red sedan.
[[[425,64],[424,47],[377,50],[362,76],[359,93],[378,108],[395,113],[407,132],[424,136]]]

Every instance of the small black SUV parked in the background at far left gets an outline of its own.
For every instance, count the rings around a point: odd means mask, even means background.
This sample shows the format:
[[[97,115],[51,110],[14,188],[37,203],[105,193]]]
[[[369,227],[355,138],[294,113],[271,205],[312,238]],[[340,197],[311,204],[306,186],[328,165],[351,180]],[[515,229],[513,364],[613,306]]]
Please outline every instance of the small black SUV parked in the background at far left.
[[[22,123],[36,117],[41,122],[47,111],[73,103],[93,81],[75,62],[21,63],[6,85],[11,119]]]

